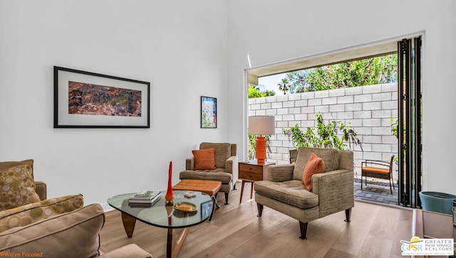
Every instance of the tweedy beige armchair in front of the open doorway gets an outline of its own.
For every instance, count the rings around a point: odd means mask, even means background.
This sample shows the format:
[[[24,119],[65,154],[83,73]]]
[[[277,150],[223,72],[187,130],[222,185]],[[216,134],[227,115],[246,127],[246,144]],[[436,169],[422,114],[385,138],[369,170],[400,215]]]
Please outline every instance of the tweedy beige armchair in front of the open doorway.
[[[312,176],[309,191],[302,177],[312,153],[323,158],[325,170]],[[301,147],[296,163],[269,166],[268,173],[269,181],[257,181],[254,185],[259,217],[264,206],[294,217],[299,220],[302,239],[306,239],[309,221],[342,210],[346,211],[346,221],[350,221],[355,203],[353,152]]]

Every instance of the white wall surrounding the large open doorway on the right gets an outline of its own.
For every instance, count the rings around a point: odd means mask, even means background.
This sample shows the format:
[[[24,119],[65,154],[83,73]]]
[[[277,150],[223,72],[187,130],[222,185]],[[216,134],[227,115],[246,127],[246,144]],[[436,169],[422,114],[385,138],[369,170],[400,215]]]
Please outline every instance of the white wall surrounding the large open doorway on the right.
[[[260,66],[423,32],[423,187],[456,194],[456,1],[230,0],[228,10],[232,141],[245,139],[247,54]]]

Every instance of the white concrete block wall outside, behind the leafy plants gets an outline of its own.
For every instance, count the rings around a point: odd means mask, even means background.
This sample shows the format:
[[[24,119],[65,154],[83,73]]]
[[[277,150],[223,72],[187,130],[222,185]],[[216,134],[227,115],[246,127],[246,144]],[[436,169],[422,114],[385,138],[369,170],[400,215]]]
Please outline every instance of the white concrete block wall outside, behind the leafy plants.
[[[276,134],[271,136],[268,161],[277,164],[289,163],[289,150],[294,148],[283,130],[296,124],[302,131],[315,128],[318,112],[326,124],[333,119],[351,123],[358,133],[363,151],[359,146],[353,149],[356,176],[361,176],[364,159],[389,161],[391,155],[398,156],[398,139],[391,133],[390,126],[390,119],[398,117],[398,84],[395,82],[254,98],[249,99],[248,110],[249,116],[275,117]],[[394,178],[398,178],[396,167],[395,171]]]

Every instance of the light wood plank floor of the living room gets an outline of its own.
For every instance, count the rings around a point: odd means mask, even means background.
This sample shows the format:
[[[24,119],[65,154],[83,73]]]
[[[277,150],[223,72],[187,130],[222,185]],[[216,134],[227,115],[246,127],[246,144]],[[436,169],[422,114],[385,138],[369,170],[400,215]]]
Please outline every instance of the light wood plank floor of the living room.
[[[212,222],[191,227],[178,257],[403,257],[400,240],[410,241],[412,210],[355,202],[351,222],[345,213],[309,222],[307,239],[299,238],[299,222],[257,203],[246,184],[239,204],[240,186],[229,195],[229,205],[216,210]],[[108,252],[135,243],[153,257],[165,257],[167,230],[136,222],[132,238],[123,230],[118,211],[106,213],[101,249]]]

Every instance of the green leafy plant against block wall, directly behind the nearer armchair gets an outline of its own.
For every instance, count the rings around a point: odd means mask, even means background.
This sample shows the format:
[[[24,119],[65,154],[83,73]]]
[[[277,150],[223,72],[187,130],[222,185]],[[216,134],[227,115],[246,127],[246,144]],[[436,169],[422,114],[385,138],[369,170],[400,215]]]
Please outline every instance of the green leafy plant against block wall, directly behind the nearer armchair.
[[[284,134],[288,136],[289,141],[293,141],[293,145],[299,147],[314,147],[346,150],[352,149],[352,146],[360,146],[363,151],[363,144],[358,139],[356,131],[350,123],[343,124],[341,121],[332,120],[325,124],[323,117],[318,113],[315,115],[317,127],[316,129],[307,128],[306,133],[301,131],[299,125],[296,124],[290,129],[284,129]],[[348,144],[348,145],[347,145]]]

